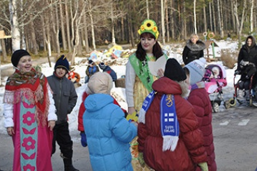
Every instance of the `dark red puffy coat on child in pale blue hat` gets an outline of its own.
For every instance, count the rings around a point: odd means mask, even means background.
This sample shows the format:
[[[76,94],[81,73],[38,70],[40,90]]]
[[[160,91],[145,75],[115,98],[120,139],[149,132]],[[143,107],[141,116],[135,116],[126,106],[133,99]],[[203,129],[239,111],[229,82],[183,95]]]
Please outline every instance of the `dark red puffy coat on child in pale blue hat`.
[[[192,90],[187,100],[194,106],[198,124],[203,133],[204,147],[208,156],[207,163],[209,171],[216,171],[217,165],[215,162],[215,147],[212,134],[212,105],[210,103],[209,95],[205,90],[205,83],[198,82],[192,86]],[[197,168],[196,171],[201,171],[201,168]]]

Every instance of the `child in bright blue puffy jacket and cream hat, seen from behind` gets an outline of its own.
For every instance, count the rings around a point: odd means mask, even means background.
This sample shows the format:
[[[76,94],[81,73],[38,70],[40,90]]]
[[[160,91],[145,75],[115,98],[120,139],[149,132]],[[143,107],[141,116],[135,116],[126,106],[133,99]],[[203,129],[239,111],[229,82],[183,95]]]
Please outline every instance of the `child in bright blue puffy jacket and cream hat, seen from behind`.
[[[91,95],[84,101],[83,124],[91,166],[101,171],[133,171],[130,142],[137,136],[137,123],[128,122],[114,104],[112,86],[106,72],[97,72],[88,81]]]

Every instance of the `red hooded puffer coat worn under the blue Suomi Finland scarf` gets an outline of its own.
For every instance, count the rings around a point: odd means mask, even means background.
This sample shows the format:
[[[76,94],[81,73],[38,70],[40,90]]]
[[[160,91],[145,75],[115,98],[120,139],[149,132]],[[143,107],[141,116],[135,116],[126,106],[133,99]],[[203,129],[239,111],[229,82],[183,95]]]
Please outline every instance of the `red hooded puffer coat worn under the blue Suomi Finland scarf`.
[[[143,152],[144,161],[154,170],[196,170],[197,163],[207,161],[207,155],[203,147],[203,133],[198,127],[193,106],[181,96],[180,84],[165,76],[153,83],[153,90],[156,90],[157,94],[146,112],[146,124],[140,122],[138,127],[139,152]],[[174,152],[162,152],[159,106],[164,94],[174,95],[180,127],[178,145]]]

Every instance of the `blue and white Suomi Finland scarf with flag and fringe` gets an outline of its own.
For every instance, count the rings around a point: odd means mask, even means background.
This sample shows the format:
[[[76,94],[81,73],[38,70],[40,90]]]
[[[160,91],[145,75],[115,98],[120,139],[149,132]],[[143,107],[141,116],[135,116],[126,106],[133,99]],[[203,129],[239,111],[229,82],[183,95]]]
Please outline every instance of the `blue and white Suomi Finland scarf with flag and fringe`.
[[[139,111],[139,122],[143,124],[146,123],[146,112],[153,102],[155,94],[156,92],[153,90],[143,101],[142,108]],[[173,152],[178,145],[180,131],[173,95],[162,95],[160,101],[160,122],[163,138],[162,151],[171,150]]]

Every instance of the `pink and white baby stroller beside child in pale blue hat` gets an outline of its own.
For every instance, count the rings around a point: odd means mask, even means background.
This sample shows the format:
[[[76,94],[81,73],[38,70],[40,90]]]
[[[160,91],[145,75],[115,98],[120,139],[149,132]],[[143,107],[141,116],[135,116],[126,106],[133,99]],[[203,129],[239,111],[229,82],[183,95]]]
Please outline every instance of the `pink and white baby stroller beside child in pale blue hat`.
[[[224,101],[222,94],[222,88],[226,86],[226,70],[222,65],[208,65],[205,67],[205,75],[203,76],[205,81],[205,89],[209,94],[210,102],[212,104],[212,110],[214,113],[219,112],[219,106],[221,101],[224,102],[225,108],[229,108],[228,101]]]

